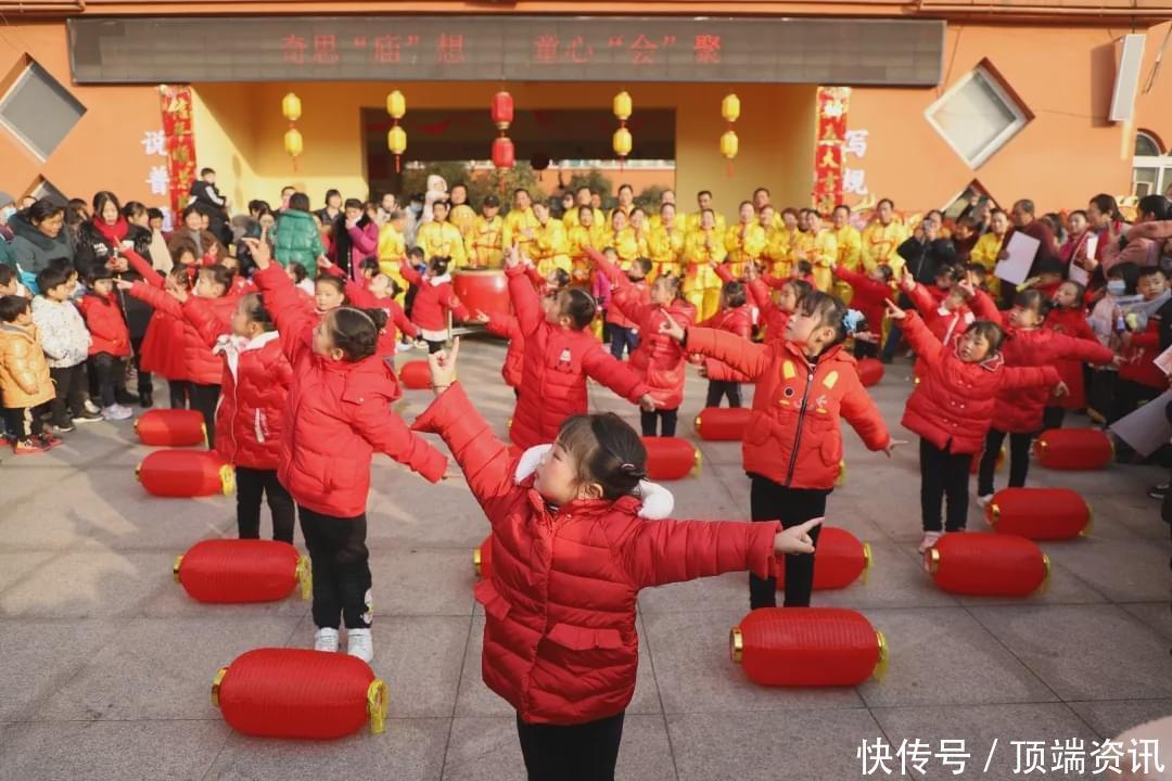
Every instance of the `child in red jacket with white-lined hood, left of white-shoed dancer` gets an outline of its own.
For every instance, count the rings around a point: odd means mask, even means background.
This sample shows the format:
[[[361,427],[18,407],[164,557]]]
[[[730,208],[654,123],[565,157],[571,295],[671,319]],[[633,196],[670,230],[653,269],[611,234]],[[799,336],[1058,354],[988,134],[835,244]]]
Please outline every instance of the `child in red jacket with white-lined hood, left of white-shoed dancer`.
[[[260,502],[268,500],[273,539],[293,542],[293,498],[277,479],[285,402],[293,370],[272,315],[258,293],[241,296],[231,330],[185,297],[183,316],[212,352],[223,356],[223,395],[216,411],[216,451],[236,467],[236,526],[241,540],[260,537]]]

